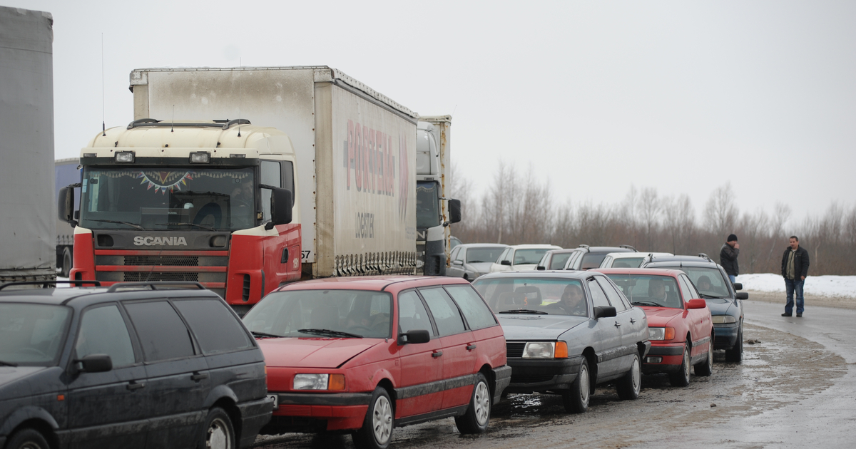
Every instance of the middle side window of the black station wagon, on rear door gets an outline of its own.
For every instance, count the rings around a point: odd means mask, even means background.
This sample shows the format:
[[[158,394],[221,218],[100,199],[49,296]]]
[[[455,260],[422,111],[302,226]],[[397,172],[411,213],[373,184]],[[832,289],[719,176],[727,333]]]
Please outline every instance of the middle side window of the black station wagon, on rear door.
[[[166,301],[126,303],[146,361],[155,362],[193,356],[193,341],[187,326]]]

